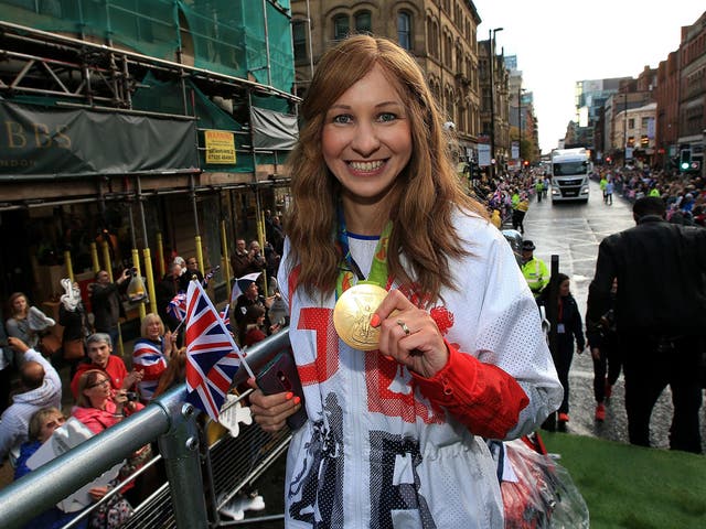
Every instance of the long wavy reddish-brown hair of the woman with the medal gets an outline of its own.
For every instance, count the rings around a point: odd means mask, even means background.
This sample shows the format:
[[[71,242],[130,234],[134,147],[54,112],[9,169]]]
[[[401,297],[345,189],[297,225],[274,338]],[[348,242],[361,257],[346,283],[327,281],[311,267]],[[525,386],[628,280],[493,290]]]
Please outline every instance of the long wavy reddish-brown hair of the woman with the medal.
[[[329,50],[319,62],[301,107],[303,126],[292,151],[292,207],[286,229],[292,260],[301,269],[297,287],[310,295],[330,294],[342,262],[334,244],[336,204],[341,186],[321,151],[321,132],[329,108],[375,65],[396,87],[408,112],[413,154],[388,194],[393,231],[388,244],[388,273],[439,298],[442,287],[456,288],[449,259],[467,255],[451,216],[457,207],[486,218],[484,207],[463,192],[450,155],[451,138],[425,76],[405,50],[387,39],[355,35]],[[400,255],[410,267],[403,268]],[[410,277],[411,276],[411,277]]]

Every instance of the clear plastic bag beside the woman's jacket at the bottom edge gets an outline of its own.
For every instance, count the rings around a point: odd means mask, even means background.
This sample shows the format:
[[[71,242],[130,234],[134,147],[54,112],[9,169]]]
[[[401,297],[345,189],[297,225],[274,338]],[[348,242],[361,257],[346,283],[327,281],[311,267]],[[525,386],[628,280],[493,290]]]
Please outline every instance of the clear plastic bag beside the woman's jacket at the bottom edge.
[[[503,444],[514,471],[500,487],[506,529],[589,529],[588,506],[566,468],[522,440]]]

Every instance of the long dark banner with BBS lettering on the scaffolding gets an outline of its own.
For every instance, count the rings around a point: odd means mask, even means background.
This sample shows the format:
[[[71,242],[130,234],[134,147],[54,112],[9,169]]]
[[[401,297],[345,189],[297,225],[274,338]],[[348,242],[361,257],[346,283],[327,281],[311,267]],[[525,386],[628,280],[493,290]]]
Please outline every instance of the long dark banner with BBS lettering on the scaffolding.
[[[193,120],[0,101],[0,179],[199,168],[194,139]]]

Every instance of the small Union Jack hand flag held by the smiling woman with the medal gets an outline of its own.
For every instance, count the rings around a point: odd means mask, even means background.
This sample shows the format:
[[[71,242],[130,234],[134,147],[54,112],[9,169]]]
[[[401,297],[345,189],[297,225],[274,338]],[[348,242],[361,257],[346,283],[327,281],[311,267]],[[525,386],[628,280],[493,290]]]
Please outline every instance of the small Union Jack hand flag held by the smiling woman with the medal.
[[[197,281],[186,291],[186,400],[218,420],[233,377],[243,364],[253,371]]]

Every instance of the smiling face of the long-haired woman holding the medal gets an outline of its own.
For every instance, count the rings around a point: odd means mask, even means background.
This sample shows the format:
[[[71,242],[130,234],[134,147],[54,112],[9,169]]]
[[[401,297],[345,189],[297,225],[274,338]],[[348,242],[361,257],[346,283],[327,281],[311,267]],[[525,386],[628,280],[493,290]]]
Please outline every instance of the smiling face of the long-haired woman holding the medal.
[[[405,104],[379,66],[331,106],[321,133],[323,159],[354,202],[377,202],[411,158]]]

